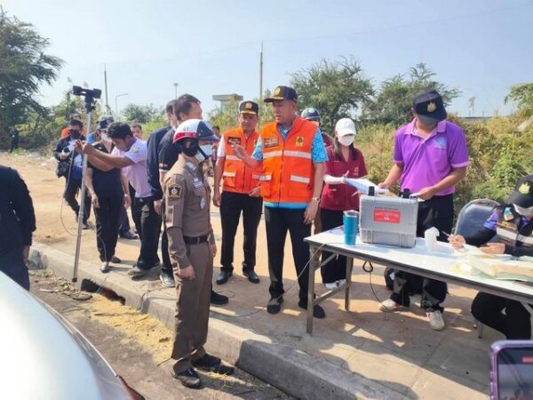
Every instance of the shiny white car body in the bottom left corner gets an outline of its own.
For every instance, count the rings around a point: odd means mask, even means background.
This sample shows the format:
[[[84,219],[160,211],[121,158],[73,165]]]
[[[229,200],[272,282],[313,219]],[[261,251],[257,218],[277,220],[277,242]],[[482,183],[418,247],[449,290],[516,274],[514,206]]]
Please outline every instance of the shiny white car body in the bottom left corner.
[[[0,397],[143,400],[82,333],[0,272]]]

